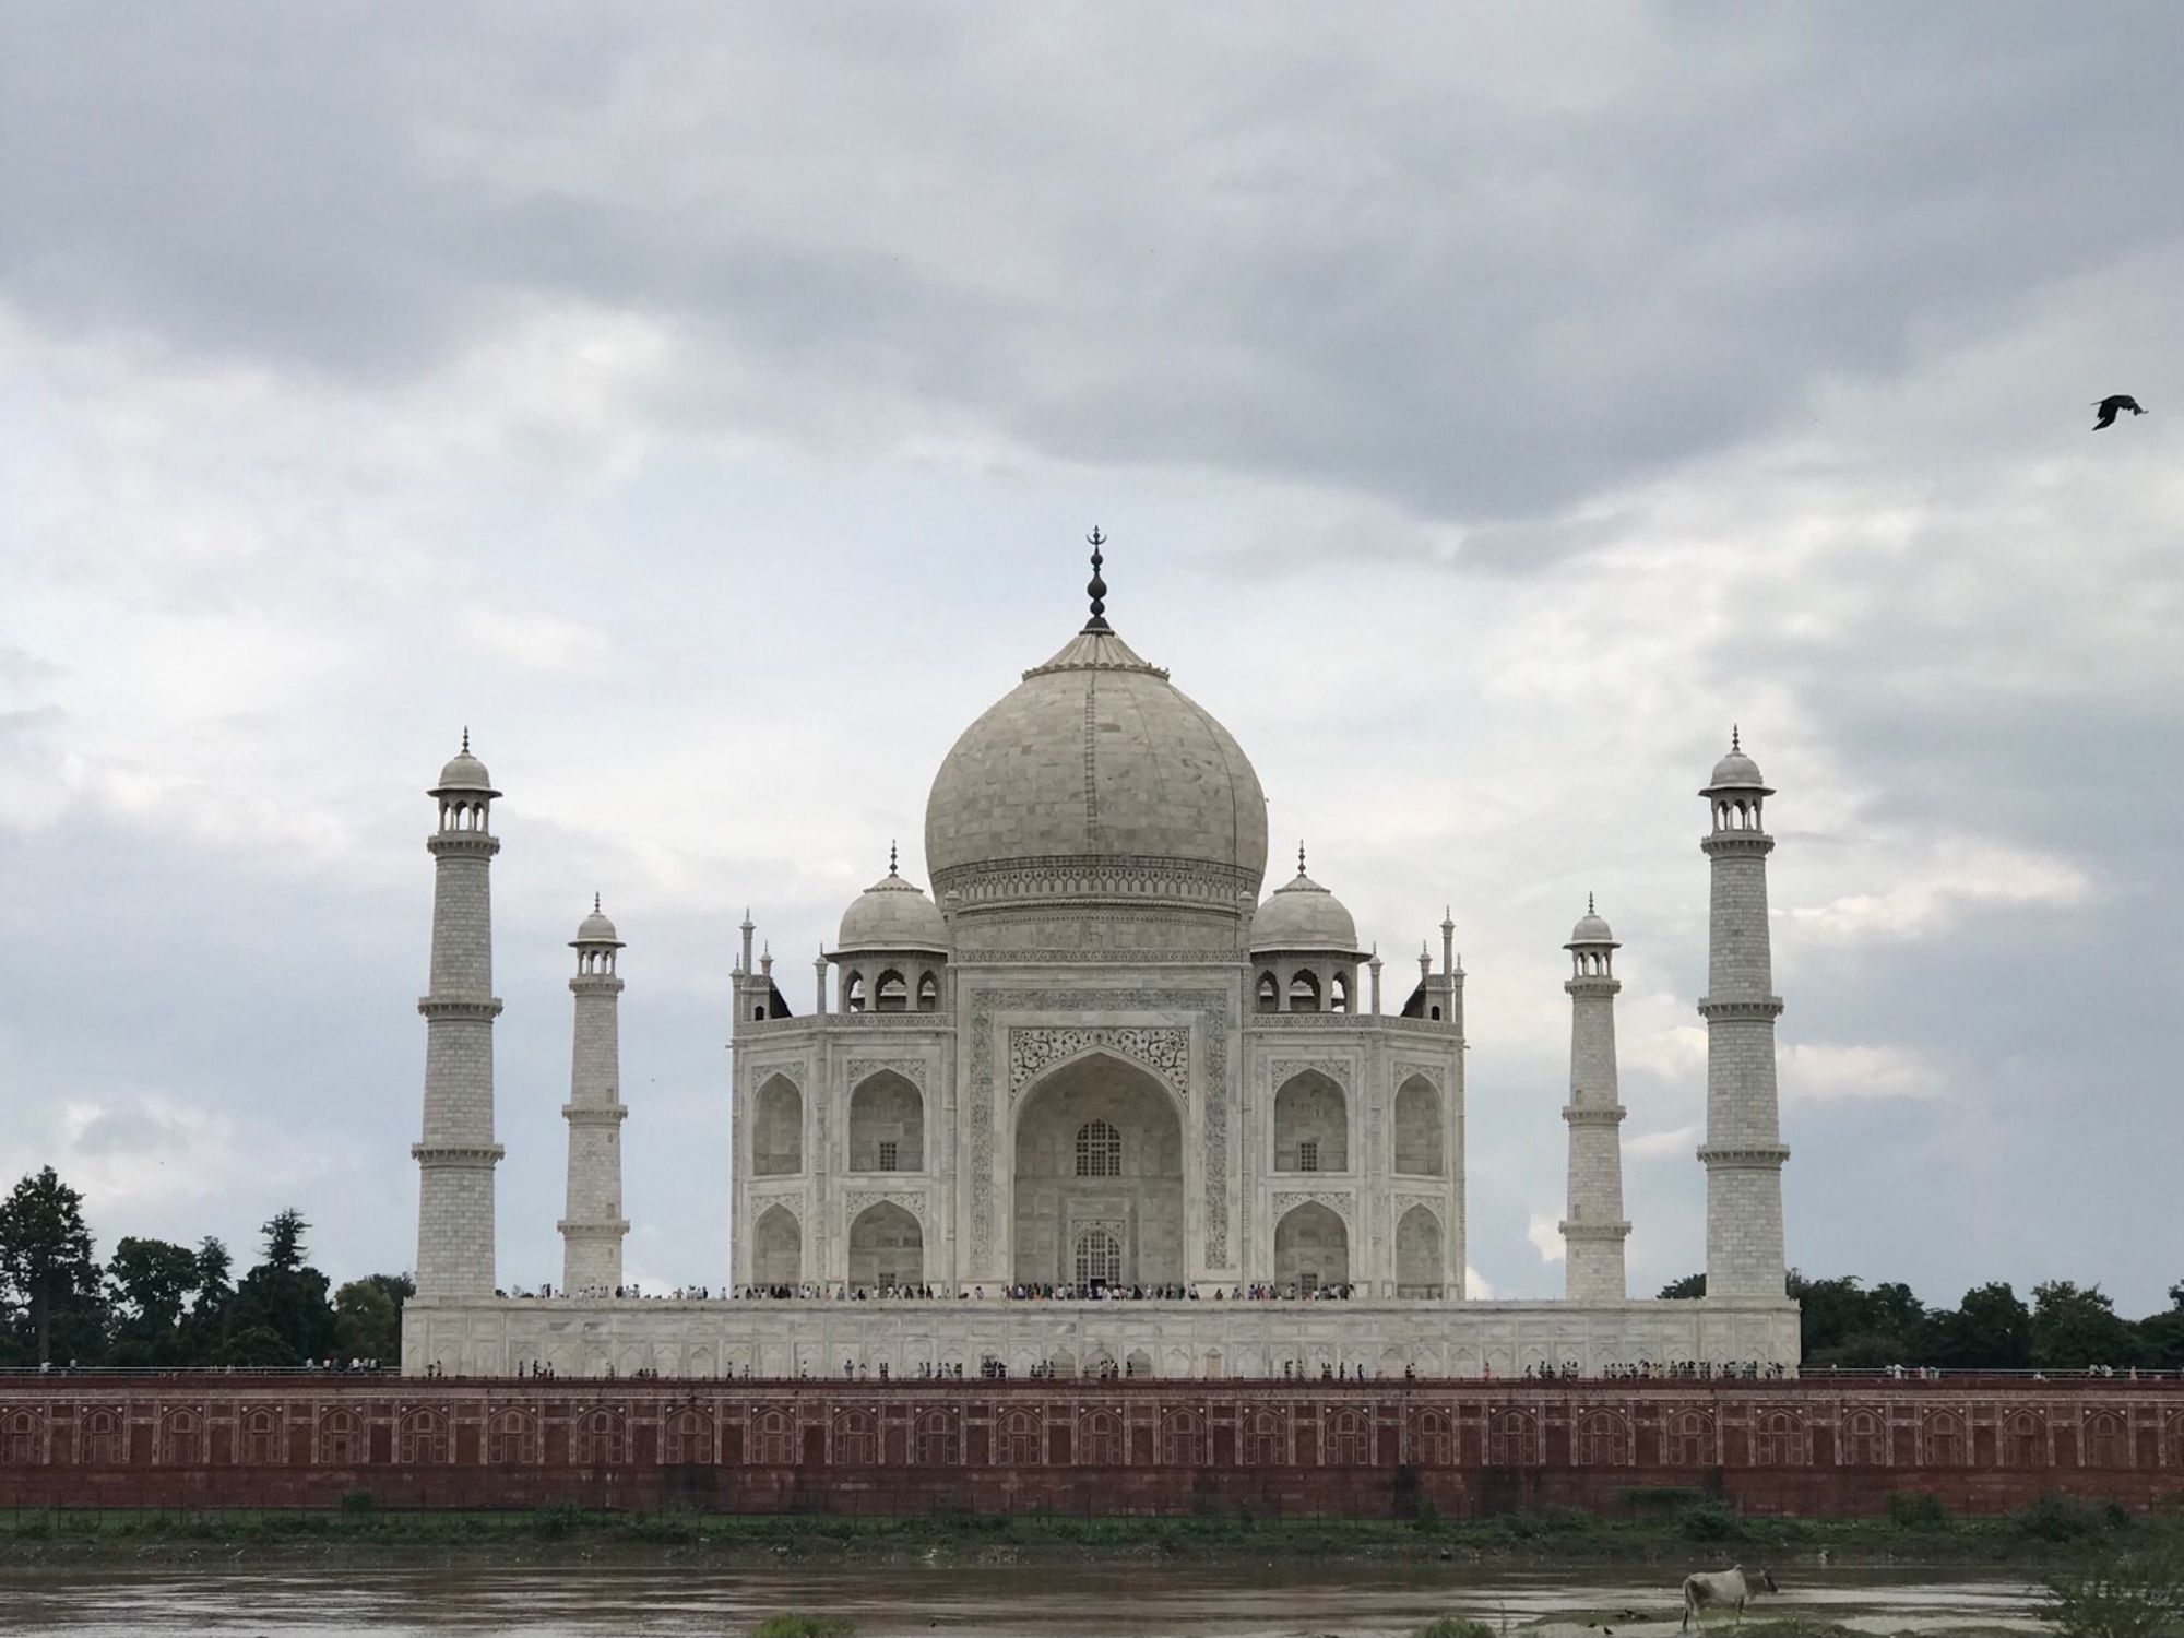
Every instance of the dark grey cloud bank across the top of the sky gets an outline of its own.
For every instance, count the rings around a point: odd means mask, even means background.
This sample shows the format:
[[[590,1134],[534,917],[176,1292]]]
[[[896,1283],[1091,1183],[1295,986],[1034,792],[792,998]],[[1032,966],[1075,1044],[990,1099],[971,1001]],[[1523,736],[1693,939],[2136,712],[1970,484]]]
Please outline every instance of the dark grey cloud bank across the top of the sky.
[[[1522,522],[2184,223],[2171,9],[1614,15],[1614,94],[1524,107],[1437,11],[1177,26],[1153,72],[1151,13],[17,13],[4,288],[358,376],[520,297],[636,306],[764,384],[664,413],[904,395]]]

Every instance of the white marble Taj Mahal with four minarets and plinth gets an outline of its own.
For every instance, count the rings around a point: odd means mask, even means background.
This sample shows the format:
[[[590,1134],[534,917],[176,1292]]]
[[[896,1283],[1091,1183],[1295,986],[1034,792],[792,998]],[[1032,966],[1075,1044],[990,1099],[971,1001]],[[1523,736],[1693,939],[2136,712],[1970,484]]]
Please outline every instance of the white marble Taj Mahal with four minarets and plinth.
[[[1706,1295],[1625,1289],[1616,950],[1588,904],[1570,976],[1566,1293],[1465,1295],[1465,1013],[1455,926],[1385,974],[1343,902],[1267,887],[1251,760],[1105,614],[943,758],[928,887],[889,871],[810,976],[727,976],[732,1286],[622,1280],[622,939],[572,941],[563,1278],[494,1262],[489,867],[498,791],[463,751],[437,828],[408,1374],[1265,1378],[1795,1369],[1762,804],[1732,740],[1706,780]],[[1282,876],[1289,865],[1284,860]],[[1544,935],[1551,937],[1551,935]],[[1393,987],[1387,981],[1393,978]],[[797,992],[797,994],[793,994]],[[802,1007],[799,1007],[802,1002]],[[642,1112],[640,1112],[642,1118]],[[1551,1120],[1551,1116],[1548,1116]]]

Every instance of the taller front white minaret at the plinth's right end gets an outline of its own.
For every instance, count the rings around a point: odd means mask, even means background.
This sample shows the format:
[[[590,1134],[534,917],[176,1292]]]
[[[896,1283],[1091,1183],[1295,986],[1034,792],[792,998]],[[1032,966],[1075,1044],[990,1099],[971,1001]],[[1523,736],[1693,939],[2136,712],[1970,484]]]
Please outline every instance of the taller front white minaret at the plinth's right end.
[[[1706,1295],[1780,1302],[1782,1123],[1776,1107],[1773,959],[1767,941],[1767,854],[1760,804],[1773,791],[1745,756],[1736,732],[1708,780],[1712,834],[1699,850],[1714,863],[1706,963]]]

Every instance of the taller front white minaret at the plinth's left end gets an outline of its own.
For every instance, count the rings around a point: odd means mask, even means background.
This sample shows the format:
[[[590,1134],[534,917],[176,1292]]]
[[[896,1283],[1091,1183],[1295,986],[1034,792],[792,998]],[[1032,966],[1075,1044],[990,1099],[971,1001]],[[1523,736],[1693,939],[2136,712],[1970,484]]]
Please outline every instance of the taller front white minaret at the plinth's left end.
[[[417,1158],[417,1295],[494,1295],[494,898],[487,871],[500,839],[487,826],[494,780],[470,753],[430,791],[435,860],[432,994],[424,1013],[424,1140]]]

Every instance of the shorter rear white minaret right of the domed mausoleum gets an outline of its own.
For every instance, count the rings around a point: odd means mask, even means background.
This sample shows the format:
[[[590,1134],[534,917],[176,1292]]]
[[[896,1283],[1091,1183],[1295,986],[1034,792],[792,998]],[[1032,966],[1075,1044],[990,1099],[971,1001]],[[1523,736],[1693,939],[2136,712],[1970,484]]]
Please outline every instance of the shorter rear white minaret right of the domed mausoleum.
[[[1570,1214],[1562,1275],[1570,1302],[1623,1302],[1623,1103],[1616,1099],[1616,935],[1586,895],[1570,952]]]

